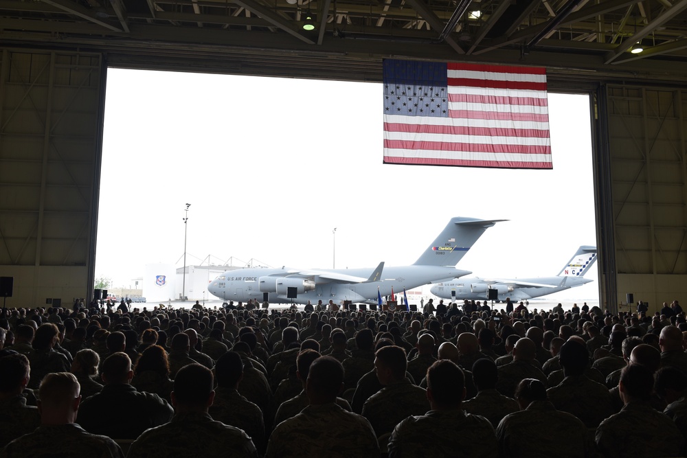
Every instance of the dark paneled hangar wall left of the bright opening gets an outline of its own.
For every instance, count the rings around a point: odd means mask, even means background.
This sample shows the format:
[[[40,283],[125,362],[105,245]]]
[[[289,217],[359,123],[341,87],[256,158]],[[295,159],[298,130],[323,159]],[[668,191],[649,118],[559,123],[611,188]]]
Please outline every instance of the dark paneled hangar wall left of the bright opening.
[[[1,49],[0,276],[8,306],[89,297],[104,63],[78,51]]]

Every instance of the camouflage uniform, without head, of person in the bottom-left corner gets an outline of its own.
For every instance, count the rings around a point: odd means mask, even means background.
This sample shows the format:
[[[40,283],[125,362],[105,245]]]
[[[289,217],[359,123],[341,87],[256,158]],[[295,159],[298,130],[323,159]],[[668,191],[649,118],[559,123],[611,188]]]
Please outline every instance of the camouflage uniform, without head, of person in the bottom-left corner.
[[[56,450],[59,450],[59,455],[56,455]],[[10,442],[0,452],[1,458],[55,456],[124,458],[124,453],[109,437],[89,434],[75,423],[40,426],[33,433]]]

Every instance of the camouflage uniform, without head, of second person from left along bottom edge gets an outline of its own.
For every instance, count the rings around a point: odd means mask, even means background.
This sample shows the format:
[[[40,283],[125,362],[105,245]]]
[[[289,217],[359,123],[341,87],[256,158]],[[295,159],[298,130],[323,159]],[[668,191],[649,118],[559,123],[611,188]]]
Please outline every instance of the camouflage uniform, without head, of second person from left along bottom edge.
[[[128,458],[249,457],[258,451],[246,433],[212,420],[207,413],[182,413],[143,433],[129,448]]]

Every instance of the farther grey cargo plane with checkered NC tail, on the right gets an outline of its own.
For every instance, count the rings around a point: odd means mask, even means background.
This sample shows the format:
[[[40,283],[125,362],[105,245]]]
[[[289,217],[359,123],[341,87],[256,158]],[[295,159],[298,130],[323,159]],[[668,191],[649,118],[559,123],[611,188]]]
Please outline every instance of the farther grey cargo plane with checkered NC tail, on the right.
[[[583,278],[596,261],[596,247],[578,248],[572,259],[563,266],[556,277],[521,278],[521,279],[487,279],[462,278],[451,282],[441,282],[432,286],[430,292],[444,299],[492,299],[506,301],[523,301],[532,297],[557,293],[575,286],[582,286],[594,280]],[[492,297],[489,292],[495,291]]]

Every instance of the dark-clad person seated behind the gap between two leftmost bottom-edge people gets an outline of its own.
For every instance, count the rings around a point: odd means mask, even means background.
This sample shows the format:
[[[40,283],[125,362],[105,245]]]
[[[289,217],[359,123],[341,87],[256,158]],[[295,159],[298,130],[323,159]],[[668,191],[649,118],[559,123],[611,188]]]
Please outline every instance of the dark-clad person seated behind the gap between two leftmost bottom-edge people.
[[[102,363],[104,387],[85,400],[78,423],[93,434],[114,439],[135,439],[153,426],[171,420],[174,410],[157,394],[137,391],[131,385],[133,370],[126,353],[111,354]]]

